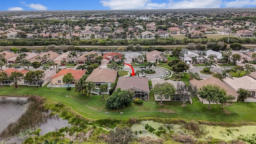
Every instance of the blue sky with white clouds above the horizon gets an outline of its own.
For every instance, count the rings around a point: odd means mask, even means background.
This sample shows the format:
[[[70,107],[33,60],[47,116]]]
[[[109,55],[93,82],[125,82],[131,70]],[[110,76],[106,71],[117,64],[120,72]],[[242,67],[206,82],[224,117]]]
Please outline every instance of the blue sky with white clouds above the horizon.
[[[2,0],[0,10],[135,10],[256,7],[256,0]]]

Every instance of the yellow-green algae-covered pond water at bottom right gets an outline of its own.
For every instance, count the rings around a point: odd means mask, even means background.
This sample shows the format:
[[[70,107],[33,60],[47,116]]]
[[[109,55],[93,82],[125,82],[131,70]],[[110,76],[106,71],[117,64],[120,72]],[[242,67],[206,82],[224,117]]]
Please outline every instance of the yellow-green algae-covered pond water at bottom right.
[[[145,129],[145,125],[148,124],[149,126],[152,126],[152,128],[155,128],[156,131],[158,131],[159,127],[163,127],[167,129],[167,126],[170,126],[170,130],[173,130],[174,133],[178,134],[186,134],[184,133],[184,130],[180,128],[181,125],[179,124],[163,124],[161,122],[153,122],[152,120],[144,120],[140,124],[134,124],[132,126],[133,131],[137,131],[137,137],[142,136],[151,136],[151,137],[157,137],[156,134],[148,132],[148,130]],[[142,131],[142,134],[139,133],[139,131]],[[209,131],[209,133],[202,138],[202,140],[210,137],[220,139],[220,140],[233,140],[239,135],[252,135],[256,134],[256,126],[241,126],[241,127],[222,127],[222,126],[207,126],[206,130]]]

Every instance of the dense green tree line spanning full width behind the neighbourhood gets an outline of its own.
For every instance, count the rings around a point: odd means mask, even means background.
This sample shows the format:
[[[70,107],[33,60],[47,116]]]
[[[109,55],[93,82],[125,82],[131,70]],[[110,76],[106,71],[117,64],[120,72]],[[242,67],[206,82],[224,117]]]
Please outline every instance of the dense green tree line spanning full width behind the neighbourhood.
[[[35,38],[35,39],[1,39],[0,46],[46,46],[50,44],[59,45],[93,45],[93,46],[124,46],[124,45],[141,45],[141,46],[150,46],[150,45],[186,45],[189,43],[194,44],[210,44],[210,43],[224,42],[228,43],[228,38],[215,39],[188,39],[184,38],[182,40],[176,38],[156,38],[152,40],[146,39],[132,39],[132,40],[112,40],[107,39],[92,39],[92,40],[72,40],[71,44],[68,44],[68,39],[65,38]],[[256,44],[256,38],[230,38],[230,44],[240,43],[240,44]],[[209,45],[210,46],[210,45]]]

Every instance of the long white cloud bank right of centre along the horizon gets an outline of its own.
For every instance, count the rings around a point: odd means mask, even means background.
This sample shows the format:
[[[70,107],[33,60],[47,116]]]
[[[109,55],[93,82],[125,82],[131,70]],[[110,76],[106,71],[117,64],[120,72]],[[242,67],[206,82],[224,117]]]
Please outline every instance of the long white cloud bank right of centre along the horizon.
[[[112,10],[166,9],[166,8],[220,8],[222,0],[168,0],[167,3],[152,3],[151,0],[101,0],[103,6]]]

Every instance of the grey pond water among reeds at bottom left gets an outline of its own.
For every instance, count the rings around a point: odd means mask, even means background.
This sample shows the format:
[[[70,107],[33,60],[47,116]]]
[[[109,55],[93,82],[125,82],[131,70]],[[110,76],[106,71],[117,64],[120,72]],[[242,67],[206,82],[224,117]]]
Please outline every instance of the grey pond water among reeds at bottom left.
[[[10,123],[16,122],[18,118],[27,110],[28,105],[28,98],[0,98],[0,132],[2,132]],[[53,132],[66,126],[71,126],[68,124],[68,120],[63,120],[62,118],[51,118],[35,129],[41,129],[39,134],[44,135],[48,132]],[[6,144],[21,144],[28,137],[30,136],[14,136],[10,140],[6,141]]]

